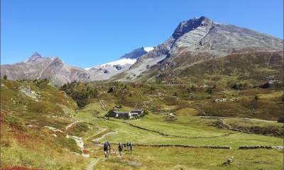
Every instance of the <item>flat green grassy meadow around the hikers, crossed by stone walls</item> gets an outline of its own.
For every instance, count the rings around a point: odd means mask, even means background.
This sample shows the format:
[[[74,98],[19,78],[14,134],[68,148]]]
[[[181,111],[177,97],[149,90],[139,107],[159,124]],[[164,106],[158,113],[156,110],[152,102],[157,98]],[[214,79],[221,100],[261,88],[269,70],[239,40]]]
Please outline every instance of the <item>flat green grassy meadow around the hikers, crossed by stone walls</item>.
[[[175,116],[176,119],[169,123],[165,121],[168,115],[160,114],[149,114],[141,120],[104,120],[94,118],[87,113],[79,114],[80,120],[96,123],[109,129],[96,136],[99,139],[95,140],[96,142],[92,142],[90,138],[85,141],[86,149],[91,153],[90,159],[99,159],[94,169],[283,168],[283,149],[239,149],[242,145],[283,146],[283,138],[216,129],[206,125],[212,120],[199,116]],[[133,152],[125,149],[123,158],[120,158],[117,153],[104,158],[102,147],[97,146],[98,142],[104,141],[109,141],[114,149],[119,142],[133,142]],[[135,146],[135,144],[169,146],[143,147]],[[170,145],[229,146],[232,149],[171,147]],[[233,162],[223,166],[226,159],[233,159]]]

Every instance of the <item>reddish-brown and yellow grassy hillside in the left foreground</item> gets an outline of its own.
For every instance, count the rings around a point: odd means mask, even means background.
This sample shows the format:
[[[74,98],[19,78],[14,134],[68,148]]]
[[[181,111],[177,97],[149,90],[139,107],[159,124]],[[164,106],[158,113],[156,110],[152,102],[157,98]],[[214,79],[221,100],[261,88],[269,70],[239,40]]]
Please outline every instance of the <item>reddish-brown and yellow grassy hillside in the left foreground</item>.
[[[72,123],[75,108],[72,98],[48,81],[1,79],[1,168],[84,166],[84,159],[72,153],[81,152],[76,142],[65,137],[65,126]]]

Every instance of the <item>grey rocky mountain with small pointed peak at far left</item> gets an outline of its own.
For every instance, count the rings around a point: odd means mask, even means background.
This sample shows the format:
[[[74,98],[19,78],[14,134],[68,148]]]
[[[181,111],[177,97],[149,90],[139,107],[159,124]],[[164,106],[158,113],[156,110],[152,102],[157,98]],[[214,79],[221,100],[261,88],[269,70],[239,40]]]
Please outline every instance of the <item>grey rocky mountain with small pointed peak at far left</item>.
[[[9,79],[50,79],[52,84],[59,85],[77,79],[88,79],[84,69],[68,66],[59,57],[42,57],[38,52],[24,62],[1,65],[1,77],[4,74]]]

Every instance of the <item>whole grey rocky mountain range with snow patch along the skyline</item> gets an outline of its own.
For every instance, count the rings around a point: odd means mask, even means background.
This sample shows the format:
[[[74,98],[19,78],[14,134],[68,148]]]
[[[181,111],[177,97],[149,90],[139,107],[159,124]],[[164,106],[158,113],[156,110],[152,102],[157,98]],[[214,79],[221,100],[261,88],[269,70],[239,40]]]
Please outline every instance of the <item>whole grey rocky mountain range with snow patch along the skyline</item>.
[[[35,52],[24,62],[1,65],[1,77],[51,79],[59,85],[74,80],[133,81],[151,74],[152,68],[163,71],[234,53],[278,50],[283,50],[283,40],[202,16],[181,22],[162,44],[138,48],[115,62],[81,69],[64,64],[58,57],[42,57]]]

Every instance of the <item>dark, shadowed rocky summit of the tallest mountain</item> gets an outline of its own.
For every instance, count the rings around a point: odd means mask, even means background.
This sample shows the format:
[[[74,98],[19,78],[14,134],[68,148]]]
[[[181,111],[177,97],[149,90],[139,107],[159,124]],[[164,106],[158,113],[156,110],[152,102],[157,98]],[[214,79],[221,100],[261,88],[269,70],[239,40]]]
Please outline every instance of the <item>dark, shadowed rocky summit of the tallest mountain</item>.
[[[195,30],[200,26],[209,26],[214,21],[211,21],[209,18],[201,16],[200,18],[192,18],[187,21],[182,21],[173,33],[173,38],[180,38],[185,33],[190,32],[191,30]]]

